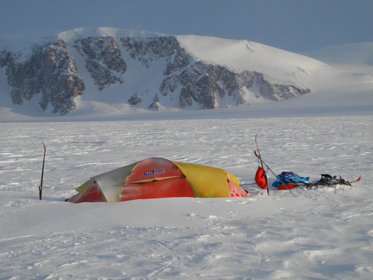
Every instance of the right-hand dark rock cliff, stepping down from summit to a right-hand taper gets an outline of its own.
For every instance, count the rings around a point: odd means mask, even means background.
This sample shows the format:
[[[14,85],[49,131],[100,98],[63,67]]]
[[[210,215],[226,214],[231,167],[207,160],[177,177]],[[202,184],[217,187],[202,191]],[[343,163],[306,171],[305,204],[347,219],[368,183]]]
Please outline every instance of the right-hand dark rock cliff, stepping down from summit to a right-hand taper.
[[[179,88],[179,103],[176,107],[188,108],[193,101],[200,105],[200,109],[214,109],[224,106],[217,103],[217,96],[224,100],[232,96],[235,105],[248,105],[245,90],[258,87],[257,98],[279,100],[293,97],[296,94],[309,93],[310,89],[296,83],[274,80],[256,71],[234,71],[221,65],[195,62],[192,56],[179,45],[176,37],[155,38],[122,38],[123,47],[130,51],[131,57],[137,59],[147,68],[154,60],[166,57],[166,67],[163,71],[164,80],[159,86],[159,93],[167,96]],[[177,74],[176,74],[177,73]],[[136,104],[142,102],[131,97]],[[130,99],[130,100],[131,100]],[[155,107],[156,101],[149,108]],[[131,104],[131,102],[130,102]]]

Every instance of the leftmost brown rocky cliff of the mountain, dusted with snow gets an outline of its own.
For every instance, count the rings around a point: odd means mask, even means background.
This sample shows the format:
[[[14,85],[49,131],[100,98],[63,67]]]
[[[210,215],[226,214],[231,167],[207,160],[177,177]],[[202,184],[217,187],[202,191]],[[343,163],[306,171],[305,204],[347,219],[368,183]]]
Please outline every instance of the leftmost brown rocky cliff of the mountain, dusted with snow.
[[[24,100],[41,94],[38,104],[43,112],[49,103],[53,113],[62,115],[76,108],[74,97],[83,93],[84,83],[63,40],[34,49],[26,56],[3,50],[1,57],[0,66],[7,66],[7,82],[13,87],[10,96],[14,104],[22,105]]]

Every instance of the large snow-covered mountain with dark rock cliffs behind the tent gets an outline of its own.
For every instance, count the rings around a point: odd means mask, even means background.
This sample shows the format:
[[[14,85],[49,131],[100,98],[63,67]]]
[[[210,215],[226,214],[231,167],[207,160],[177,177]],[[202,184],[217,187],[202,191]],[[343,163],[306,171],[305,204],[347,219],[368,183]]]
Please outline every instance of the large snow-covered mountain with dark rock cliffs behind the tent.
[[[0,114],[216,109],[347,87],[365,96],[373,83],[372,75],[307,56],[207,36],[78,28],[24,40],[2,35],[0,47]]]

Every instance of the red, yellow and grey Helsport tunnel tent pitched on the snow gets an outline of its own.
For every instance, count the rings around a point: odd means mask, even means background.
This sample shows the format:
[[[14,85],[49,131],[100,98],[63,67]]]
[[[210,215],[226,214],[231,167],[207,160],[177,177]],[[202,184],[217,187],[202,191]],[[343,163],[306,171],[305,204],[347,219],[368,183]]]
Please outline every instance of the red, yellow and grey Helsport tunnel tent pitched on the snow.
[[[68,202],[119,202],[161,197],[247,197],[239,180],[220,168],[148,158],[100,175]]]

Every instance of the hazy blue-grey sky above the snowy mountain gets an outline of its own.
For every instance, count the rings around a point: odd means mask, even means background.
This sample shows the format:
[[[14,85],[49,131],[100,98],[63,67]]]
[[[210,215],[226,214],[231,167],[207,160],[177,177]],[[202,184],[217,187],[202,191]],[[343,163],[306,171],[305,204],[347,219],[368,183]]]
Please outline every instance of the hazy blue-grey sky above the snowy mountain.
[[[305,52],[373,41],[373,0],[0,0],[0,34],[78,27],[247,39]]]

